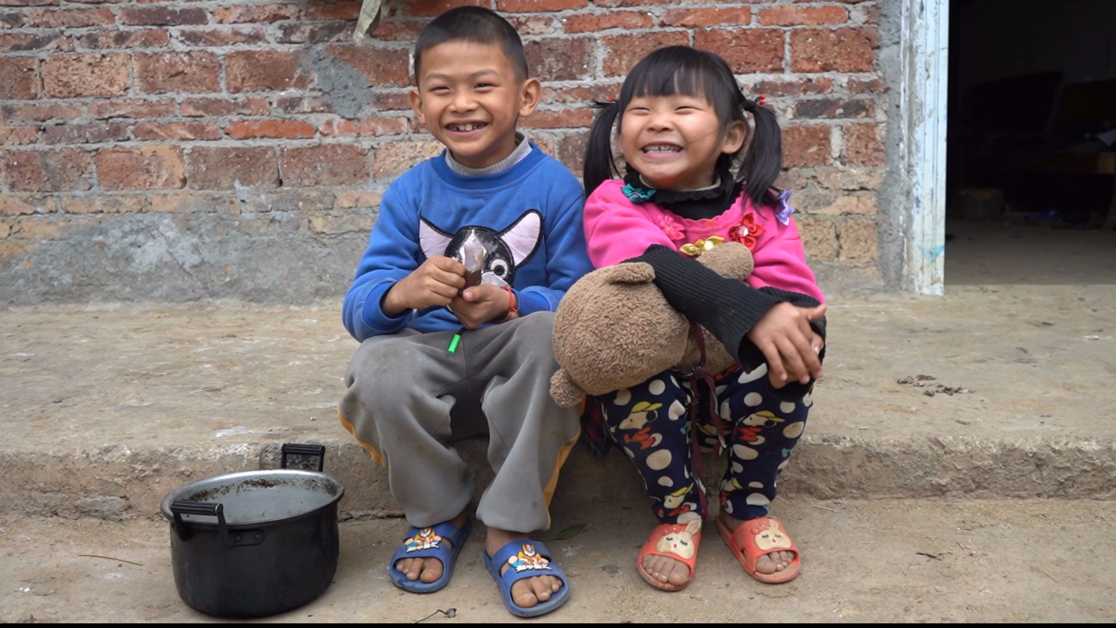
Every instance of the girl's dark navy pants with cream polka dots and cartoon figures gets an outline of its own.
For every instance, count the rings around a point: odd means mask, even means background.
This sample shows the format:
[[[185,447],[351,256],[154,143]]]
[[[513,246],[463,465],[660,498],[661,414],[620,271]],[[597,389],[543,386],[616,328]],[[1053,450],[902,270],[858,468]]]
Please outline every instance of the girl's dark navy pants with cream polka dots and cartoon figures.
[[[605,425],[616,444],[643,475],[652,511],[662,523],[700,512],[701,479],[693,474],[689,405],[690,382],[670,371],[629,389],[604,396]],[[778,401],[763,364],[750,373],[739,367],[716,378],[716,402],[725,434],[729,468],[721,480],[721,507],[751,520],[766,516],[776,496],[776,477],[802,436],[810,396],[797,402]],[[699,381],[698,437],[703,451],[718,444],[709,416],[708,386]],[[692,515],[691,515],[692,516]]]

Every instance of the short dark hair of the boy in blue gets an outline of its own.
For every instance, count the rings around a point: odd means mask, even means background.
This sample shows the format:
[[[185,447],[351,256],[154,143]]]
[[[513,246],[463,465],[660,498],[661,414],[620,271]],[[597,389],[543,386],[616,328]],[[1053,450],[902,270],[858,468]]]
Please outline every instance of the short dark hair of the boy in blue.
[[[422,77],[422,54],[446,41],[498,44],[516,70],[516,76],[527,78],[523,42],[508,20],[482,7],[458,7],[435,18],[419,35],[419,40],[415,41],[415,80]]]

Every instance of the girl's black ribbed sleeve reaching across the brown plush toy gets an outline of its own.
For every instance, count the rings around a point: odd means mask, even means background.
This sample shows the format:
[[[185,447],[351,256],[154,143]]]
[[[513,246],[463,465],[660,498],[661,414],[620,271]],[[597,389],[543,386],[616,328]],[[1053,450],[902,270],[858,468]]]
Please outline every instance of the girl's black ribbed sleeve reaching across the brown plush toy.
[[[655,286],[666,302],[683,316],[709,330],[724,344],[730,355],[745,370],[753,370],[766,360],[763,353],[748,340],[748,332],[772,307],[787,302],[799,307],[816,307],[819,303],[800,293],[772,287],[752,288],[743,282],[722,277],[696,259],[680,255],[662,245],[652,245],[639,257],[655,269]],[[825,317],[810,323],[814,331],[826,337]],[[825,358],[825,349],[820,358]],[[780,401],[801,399],[814,380],[791,382],[775,391]]]

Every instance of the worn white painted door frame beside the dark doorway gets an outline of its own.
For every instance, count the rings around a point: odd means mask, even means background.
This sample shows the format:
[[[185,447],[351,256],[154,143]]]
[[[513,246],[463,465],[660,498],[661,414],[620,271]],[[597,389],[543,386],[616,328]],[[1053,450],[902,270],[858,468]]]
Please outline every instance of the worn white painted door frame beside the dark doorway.
[[[901,1],[897,126],[908,211],[903,222],[903,282],[910,292],[940,295],[944,288],[950,0]]]

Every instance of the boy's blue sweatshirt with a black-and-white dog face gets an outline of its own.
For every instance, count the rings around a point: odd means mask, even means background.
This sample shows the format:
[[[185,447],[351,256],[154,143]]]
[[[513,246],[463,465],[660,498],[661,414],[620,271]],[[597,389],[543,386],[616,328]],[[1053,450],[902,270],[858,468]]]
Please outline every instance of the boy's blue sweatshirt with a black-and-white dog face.
[[[455,257],[470,235],[487,251],[484,272],[504,280],[519,313],[558,307],[566,291],[593,269],[585,249],[585,192],[566,166],[531,145],[519,163],[496,174],[458,174],[445,155],[420,163],[388,187],[368,248],[345,295],[341,317],[364,341],[411,327],[461,329],[445,307],[384,313],[387,291],[426,258]]]

